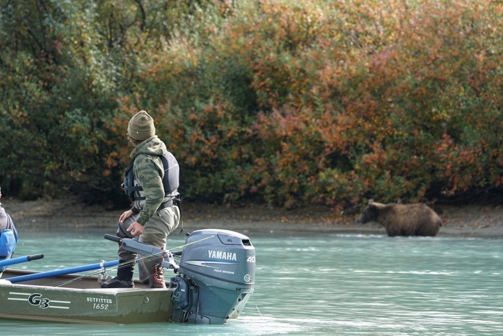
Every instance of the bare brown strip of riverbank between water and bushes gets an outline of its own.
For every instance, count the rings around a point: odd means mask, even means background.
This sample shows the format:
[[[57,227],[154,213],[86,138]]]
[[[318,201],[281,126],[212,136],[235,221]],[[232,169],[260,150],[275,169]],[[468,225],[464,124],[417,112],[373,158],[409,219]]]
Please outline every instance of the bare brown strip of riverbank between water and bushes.
[[[121,211],[87,206],[77,199],[21,201],[3,197],[2,205],[19,231],[48,228],[115,231]],[[503,238],[503,206],[464,205],[435,207],[443,221],[439,237]],[[232,207],[184,203],[183,224],[187,232],[199,229],[226,229],[248,233],[341,233],[385,234],[375,224],[355,223],[358,214],[336,214],[325,207],[295,210],[270,209],[265,205]]]

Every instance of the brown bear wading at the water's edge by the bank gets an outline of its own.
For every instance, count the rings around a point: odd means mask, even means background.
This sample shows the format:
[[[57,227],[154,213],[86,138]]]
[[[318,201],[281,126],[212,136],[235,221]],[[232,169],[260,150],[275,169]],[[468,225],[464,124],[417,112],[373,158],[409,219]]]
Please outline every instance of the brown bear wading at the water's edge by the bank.
[[[436,236],[442,226],[439,215],[425,204],[382,204],[373,200],[356,221],[376,222],[386,228],[390,237]]]

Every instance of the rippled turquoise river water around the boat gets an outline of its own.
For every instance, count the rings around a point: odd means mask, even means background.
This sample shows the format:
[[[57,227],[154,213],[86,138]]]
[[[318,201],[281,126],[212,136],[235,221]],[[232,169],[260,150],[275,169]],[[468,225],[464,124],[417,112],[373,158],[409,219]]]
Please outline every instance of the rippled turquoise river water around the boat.
[[[20,232],[13,265],[51,271],[116,260],[111,232]],[[225,325],[0,320],[2,335],[503,335],[503,240],[247,234],[255,293]],[[172,234],[168,247],[183,244]],[[166,275],[170,276],[172,271]]]

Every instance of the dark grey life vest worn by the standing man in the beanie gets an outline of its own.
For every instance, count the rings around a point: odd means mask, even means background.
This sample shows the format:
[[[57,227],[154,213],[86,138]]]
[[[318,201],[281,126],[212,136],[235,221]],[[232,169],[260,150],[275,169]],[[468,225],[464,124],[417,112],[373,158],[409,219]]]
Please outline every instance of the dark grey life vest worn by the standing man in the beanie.
[[[178,165],[177,159],[170,152],[164,152],[164,154],[159,155],[162,161],[162,167],[164,169],[164,176],[162,177],[162,186],[164,187],[164,196],[178,196],[179,193],[177,191],[180,181],[180,167]],[[122,188],[124,189],[124,193],[126,196],[131,197],[133,200],[137,199],[145,199],[145,197],[135,197],[135,191],[142,191],[143,188],[139,185],[134,185],[134,173],[133,173],[133,164],[134,159],[129,162],[126,171],[124,172],[124,183],[122,184]]]

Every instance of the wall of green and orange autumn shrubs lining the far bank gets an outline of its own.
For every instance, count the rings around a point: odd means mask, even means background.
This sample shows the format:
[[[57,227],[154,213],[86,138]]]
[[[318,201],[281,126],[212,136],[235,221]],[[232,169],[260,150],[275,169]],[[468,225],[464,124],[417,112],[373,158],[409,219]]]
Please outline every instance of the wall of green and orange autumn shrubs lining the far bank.
[[[52,53],[27,43],[0,54],[14,74],[0,79],[9,88],[2,131],[25,143],[35,135],[24,149],[44,167],[33,183],[64,176],[74,190],[118,192],[127,122],[145,109],[179,159],[189,199],[344,210],[368,198],[435,201],[501,188],[500,2],[61,8],[52,49],[42,48]],[[26,176],[31,164],[21,160],[11,154],[0,178]]]

